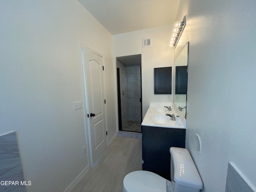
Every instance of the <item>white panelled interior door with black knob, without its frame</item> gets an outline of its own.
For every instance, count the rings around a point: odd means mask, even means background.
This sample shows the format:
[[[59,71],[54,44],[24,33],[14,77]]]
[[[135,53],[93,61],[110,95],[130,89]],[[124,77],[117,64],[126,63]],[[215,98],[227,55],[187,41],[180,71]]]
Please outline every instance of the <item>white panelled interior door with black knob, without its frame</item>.
[[[88,130],[92,165],[107,148],[103,57],[83,48],[86,76]]]

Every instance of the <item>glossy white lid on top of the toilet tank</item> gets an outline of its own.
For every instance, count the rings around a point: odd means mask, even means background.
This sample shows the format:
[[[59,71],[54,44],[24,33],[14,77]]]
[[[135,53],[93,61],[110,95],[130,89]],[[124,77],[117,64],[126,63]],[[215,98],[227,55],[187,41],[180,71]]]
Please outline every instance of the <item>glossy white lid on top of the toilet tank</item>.
[[[170,153],[174,166],[174,181],[180,185],[202,189],[202,180],[188,150],[171,147]]]

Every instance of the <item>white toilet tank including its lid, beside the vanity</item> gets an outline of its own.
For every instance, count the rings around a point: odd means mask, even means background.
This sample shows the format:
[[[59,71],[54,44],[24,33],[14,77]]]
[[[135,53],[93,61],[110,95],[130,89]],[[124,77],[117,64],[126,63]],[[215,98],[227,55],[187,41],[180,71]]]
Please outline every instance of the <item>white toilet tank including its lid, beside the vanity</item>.
[[[174,192],[199,192],[203,183],[188,150],[171,147],[170,154]]]

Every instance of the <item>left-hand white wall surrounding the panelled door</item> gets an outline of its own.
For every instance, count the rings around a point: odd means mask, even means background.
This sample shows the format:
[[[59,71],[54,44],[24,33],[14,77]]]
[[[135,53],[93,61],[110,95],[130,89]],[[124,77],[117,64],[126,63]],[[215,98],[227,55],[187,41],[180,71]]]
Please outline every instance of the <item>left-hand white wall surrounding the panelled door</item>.
[[[0,135],[17,131],[28,192],[63,192],[88,164],[79,42],[104,54],[116,134],[112,35],[76,0],[0,2]]]

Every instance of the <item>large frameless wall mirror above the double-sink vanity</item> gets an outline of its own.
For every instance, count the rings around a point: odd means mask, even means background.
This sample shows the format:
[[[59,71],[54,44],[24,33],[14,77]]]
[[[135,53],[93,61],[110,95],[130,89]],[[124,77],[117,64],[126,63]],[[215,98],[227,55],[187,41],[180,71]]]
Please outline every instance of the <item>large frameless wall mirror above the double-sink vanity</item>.
[[[186,118],[188,85],[188,42],[174,61],[174,104]]]

